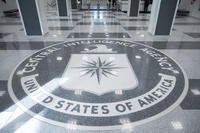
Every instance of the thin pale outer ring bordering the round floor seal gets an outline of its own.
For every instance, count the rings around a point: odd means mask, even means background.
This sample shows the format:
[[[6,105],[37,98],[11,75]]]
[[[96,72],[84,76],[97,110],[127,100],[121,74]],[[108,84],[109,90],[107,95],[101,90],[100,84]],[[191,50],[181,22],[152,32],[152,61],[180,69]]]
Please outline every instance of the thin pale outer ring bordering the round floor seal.
[[[77,41],[92,41],[92,40],[107,40],[107,39],[85,39],[85,40],[77,40]],[[107,41],[121,41],[121,40],[107,40]],[[37,115],[35,113],[33,113],[32,111],[30,111],[29,109],[27,109],[23,104],[20,103],[20,101],[17,99],[17,97],[14,95],[14,92],[12,90],[12,78],[13,78],[13,75],[15,73],[15,71],[17,70],[18,66],[23,63],[27,58],[31,57],[32,55],[44,50],[44,49],[47,49],[49,47],[52,47],[52,46],[56,46],[56,45],[60,45],[60,44],[63,44],[63,43],[67,43],[67,42],[76,42],[76,41],[63,41],[63,42],[60,42],[60,43],[56,43],[56,44],[53,44],[53,45],[50,45],[50,46],[47,46],[45,48],[42,48],[34,53],[32,53],[30,56],[27,56],[25,57],[22,61],[20,61],[16,67],[12,70],[11,74],[10,74],[10,77],[8,79],[8,92],[9,92],[9,95],[11,97],[11,99],[15,102],[15,104],[17,106],[19,106],[23,111],[25,111],[27,114],[31,115],[33,118],[36,118],[38,120],[41,120],[45,123],[48,123],[48,124],[52,124],[52,125],[55,125],[55,126],[61,126],[61,127],[64,127],[64,128],[67,128],[67,129],[70,129],[69,127],[72,126],[72,124],[70,123],[62,123],[62,122],[58,122],[58,121],[54,121],[54,120],[50,120],[48,118],[45,118],[45,117],[42,117],[40,115]],[[184,71],[184,69],[180,66],[180,64],[175,61],[172,57],[169,57],[168,55],[166,55],[165,53],[161,52],[160,50],[157,50],[153,47],[150,47],[148,45],[145,45],[145,44],[142,44],[142,43],[139,43],[139,42],[130,42],[130,41],[123,41],[123,42],[127,42],[127,43],[135,43],[135,44],[138,44],[138,45],[142,45],[144,47],[147,47],[147,48],[150,48],[150,49],[153,49],[155,51],[158,51],[162,54],[164,54],[165,56],[167,56],[169,59],[171,59],[172,61],[174,61],[177,66],[181,69],[182,73],[183,73],[183,76],[184,76],[184,79],[185,79],[185,86],[184,86],[184,89],[183,89],[183,92],[181,93],[181,95],[179,96],[179,98],[177,99],[176,102],[174,102],[171,106],[169,106],[166,110],[154,115],[154,116],[151,116],[147,119],[143,119],[143,120],[139,120],[137,122],[133,122],[133,123],[127,123],[127,124],[123,124],[123,125],[115,125],[115,126],[82,126],[82,125],[75,125],[75,129],[78,129],[78,130],[84,130],[84,131],[105,131],[105,130],[117,130],[117,129],[126,129],[126,126],[128,127],[135,127],[135,126],[138,126],[138,125],[141,125],[141,124],[144,124],[144,123],[147,123],[147,122],[150,122],[150,121],[153,121],[153,120],[156,120],[164,115],[166,115],[167,113],[171,112],[172,110],[174,110],[182,101],[183,99],[185,98],[185,96],[187,95],[187,92],[188,92],[188,88],[189,88],[189,83],[188,83],[188,77],[187,77],[187,74],[186,72]],[[124,128],[125,127],[125,128]]]

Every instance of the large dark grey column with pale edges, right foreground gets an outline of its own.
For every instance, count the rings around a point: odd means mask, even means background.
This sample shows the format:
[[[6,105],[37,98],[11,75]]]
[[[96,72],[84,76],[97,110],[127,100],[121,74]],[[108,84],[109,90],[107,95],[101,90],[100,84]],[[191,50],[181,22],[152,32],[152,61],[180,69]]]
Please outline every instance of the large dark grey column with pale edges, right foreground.
[[[153,35],[170,35],[179,0],[154,0],[151,8],[149,32]]]

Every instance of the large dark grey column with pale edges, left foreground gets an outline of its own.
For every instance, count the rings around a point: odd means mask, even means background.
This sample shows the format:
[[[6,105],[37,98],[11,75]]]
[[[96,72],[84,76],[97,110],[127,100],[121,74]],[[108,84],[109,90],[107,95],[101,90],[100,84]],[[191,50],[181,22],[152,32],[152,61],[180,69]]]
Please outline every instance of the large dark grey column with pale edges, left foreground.
[[[17,6],[27,36],[40,36],[47,33],[45,14],[40,7],[44,3],[41,2],[41,0],[17,0]]]

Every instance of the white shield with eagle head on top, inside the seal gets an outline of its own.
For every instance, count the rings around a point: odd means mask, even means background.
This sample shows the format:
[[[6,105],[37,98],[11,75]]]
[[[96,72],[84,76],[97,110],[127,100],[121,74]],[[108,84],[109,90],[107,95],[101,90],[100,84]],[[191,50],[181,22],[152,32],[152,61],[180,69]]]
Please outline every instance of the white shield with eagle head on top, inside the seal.
[[[85,49],[81,54],[71,54],[60,85],[68,90],[103,95],[135,89],[138,80],[126,54],[117,54],[105,45],[99,45],[93,50]]]

